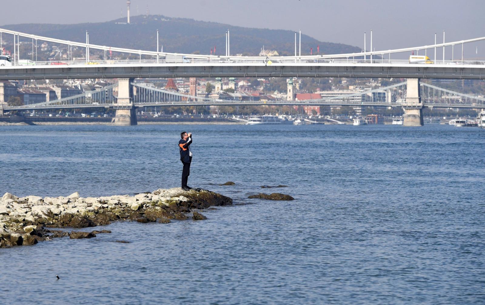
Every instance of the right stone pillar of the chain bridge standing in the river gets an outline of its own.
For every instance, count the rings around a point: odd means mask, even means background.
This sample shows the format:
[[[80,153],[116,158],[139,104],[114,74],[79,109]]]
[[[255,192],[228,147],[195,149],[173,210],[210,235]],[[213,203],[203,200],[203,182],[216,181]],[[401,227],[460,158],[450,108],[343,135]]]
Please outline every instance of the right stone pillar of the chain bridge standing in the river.
[[[423,104],[420,96],[420,79],[407,79],[404,126],[423,126]]]

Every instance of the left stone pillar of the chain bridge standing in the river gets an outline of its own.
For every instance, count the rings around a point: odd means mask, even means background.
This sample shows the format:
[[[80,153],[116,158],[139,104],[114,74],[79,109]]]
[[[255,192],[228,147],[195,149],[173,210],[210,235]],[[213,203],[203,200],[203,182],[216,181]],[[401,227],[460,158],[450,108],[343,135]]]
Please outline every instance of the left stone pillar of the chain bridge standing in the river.
[[[136,107],[133,102],[133,79],[118,79],[118,100],[114,116],[114,125],[137,125]]]

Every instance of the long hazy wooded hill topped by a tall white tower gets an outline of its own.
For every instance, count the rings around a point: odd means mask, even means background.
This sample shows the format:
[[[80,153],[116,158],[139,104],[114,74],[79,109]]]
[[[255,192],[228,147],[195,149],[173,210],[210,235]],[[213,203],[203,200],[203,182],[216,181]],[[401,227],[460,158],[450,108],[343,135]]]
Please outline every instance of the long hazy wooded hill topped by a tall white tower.
[[[231,54],[258,55],[263,45],[265,49],[277,50],[280,55],[294,54],[292,31],[234,27],[162,15],[133,16],[130,21],[130,24],[126,24],[126,18],[120,18],[99,23],[16,24],[1,28],[78,42],[85,41],[87,30],[92,44],[146,50],[156,50],[158,29],[160,45],[163,45],[165,52],[210,54],[210,49],[216,46],[217,55],[225,53],[225,33],[229,29]],[[360,51],[358,47],[321,42],[302,35],[302,55],[309,54],[310,48],[313,48],[315,54],[318,45],[322,54]]]

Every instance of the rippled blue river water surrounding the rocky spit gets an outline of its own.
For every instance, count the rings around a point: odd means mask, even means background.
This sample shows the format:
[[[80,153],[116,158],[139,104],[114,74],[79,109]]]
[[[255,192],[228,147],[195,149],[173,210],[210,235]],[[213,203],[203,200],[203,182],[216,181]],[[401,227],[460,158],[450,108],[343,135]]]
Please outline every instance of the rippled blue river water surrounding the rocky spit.
[[[177,187],[184,130],[189,185],[234,206],[0,249],[0,303],[485,304],[484,129],[1,127],[0,193]],[[296,200],[247,199],[259,192]]]

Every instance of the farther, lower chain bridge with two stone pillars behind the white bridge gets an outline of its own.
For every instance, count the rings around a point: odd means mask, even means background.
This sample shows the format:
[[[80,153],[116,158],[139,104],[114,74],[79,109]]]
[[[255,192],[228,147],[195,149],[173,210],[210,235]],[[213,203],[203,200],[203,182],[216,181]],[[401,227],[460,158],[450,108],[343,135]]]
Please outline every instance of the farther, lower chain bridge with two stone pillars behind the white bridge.
[[[129,82],[128,92],[123,92],[121,82]],[[145,83],[132,82],[133,80],[120,80],[96,91],[85,92],[80,95],[52,100],[49,102],[36,103],[23,106],[6,106],[3,111],[10,110],[46,110],[46,109],[72,109],[72,108],[114,108],[124,111],[124,115],[134,115],[132,109],[137,107],[161,107],[161,106],[249,106],[249,105],[332,105],[332,106],[385,106],[403,107],[408,112],[418,117],[422,125],[422,108],[471,108],[485,109],[485,98],[472,96],[460,92],[437,87],[435,85],[410,79],[377,89],[342,94],[319,99],[309,100],[239,100],[239,99],[216,99],[205,96],[191,96],[184,93],[164,90]],[[413,96],[415,91],[408,91],[408,86],[416,86],[419,83],[418,95]],[[121,90],[121,91],[120,91]],[[406,119],[406,116],[404,117]],[[125,117],[125,120],[128,120]],[[409,118],[408,118],[409,119]],[[416,125],[416,124],[415,124]]]

